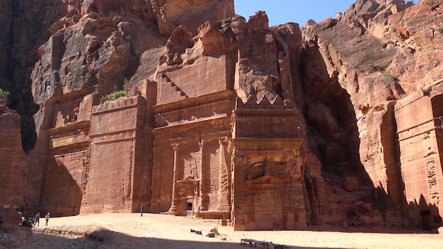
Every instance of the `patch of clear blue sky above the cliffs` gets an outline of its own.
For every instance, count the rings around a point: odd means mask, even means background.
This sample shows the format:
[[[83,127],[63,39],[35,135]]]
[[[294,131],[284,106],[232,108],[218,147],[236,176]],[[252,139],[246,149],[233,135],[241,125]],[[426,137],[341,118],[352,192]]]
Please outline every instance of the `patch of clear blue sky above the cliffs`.
[[[265,11],[269,25],[299,23],[303,27],[309,19],[321,22],[335,13],[345,12],[355,0],[234,0],[237,15],[248,20],[255,11]],[[418,2],[417,0],[414,1]]]

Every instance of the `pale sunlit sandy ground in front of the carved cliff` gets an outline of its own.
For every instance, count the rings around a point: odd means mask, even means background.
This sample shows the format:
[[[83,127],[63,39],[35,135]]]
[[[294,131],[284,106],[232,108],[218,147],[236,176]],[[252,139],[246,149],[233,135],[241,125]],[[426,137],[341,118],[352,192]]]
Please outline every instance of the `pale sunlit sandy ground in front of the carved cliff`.
[[[40,248],[248,248],[241,238],[272,241],[289,248],[443,248],[443,235],[399,229],[343,228],[340,231],[234,231],[210,221],[166,214],[93,214],[40,219],[34,242]],[[190,232],[217,226],[220,236],[209,238]],[[86,237],[85,237],[86,236]],[[222,238],[226,238],[223,241]]]

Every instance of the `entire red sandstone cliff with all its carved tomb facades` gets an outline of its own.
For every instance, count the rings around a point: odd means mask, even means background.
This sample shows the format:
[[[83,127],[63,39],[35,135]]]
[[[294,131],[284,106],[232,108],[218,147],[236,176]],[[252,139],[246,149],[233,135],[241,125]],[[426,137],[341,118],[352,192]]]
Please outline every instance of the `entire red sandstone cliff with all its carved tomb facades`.
[[[231,0],[0,6],[27,153],[2,176],[25,172],[11,206],[236,230],[441,223],[439,1],[359,0],[304,28]]]

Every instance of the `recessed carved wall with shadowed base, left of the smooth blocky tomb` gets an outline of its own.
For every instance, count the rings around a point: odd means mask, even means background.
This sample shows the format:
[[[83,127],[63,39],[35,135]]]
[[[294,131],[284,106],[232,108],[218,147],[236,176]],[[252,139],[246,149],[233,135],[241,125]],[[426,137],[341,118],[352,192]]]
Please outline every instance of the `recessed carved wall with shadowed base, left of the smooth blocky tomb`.
[[[47,112],[52,110],[53,115],[47,120],[50,129],[40,134],[49,139],[47,163],[42,166],[40,205],[35,205],[42,214],[69,216],[80,212],[88,178],[92,101],[93,95],[65,95],[45,108]]]

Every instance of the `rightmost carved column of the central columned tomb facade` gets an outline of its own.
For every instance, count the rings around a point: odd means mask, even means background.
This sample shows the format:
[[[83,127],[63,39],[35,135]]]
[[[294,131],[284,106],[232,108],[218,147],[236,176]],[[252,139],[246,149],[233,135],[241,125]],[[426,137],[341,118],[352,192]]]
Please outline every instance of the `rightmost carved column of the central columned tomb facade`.
[[[219,137],[219,202],[217,204],[217,211],[229,212],[229,170],[226,165],[224,144],[227,137]]]

